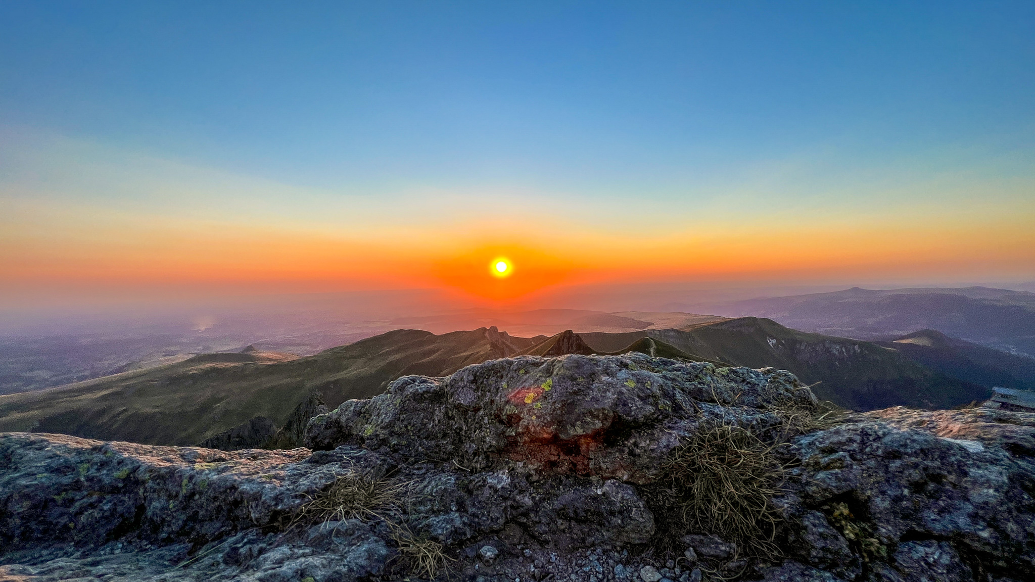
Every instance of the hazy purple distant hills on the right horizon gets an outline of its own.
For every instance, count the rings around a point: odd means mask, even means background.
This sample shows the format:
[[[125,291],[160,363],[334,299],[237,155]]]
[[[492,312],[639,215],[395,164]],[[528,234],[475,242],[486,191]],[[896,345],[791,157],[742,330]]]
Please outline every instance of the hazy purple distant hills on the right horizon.
[[[767,297],[710,305],[731,317],[861,340],[937,329],[986,347],[1035,357],[1035,293],[967,287],[874,290]]]

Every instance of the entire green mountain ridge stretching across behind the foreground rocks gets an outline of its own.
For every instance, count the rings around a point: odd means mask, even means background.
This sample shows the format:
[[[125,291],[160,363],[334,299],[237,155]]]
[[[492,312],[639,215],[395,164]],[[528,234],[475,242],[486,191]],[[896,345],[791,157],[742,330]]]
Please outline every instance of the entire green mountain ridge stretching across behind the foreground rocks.
[[[638,319],[631,314],[617,317]],[[68,386],[0,396],[0,431],[197,444],[218,435],[229,438],[228,431],[242,426],[283,431],[314,394],[334,408],[348,399],[379,394],[400,376],[444,376],[471,363],[523,353],[633,350],[719,366],[774,367],[797,374],[805,383],[819,382],[812,389],[820,398],[860,410],[893,405],[949,408],[986,398],[986,382],[994,376],[966,376],[966,358],[988,370],[1005,366],[1018,381],[1029,377],[1023,362],[1007,358],[997,365],[989,354],[978,357],[971,348],[939,348],[938,357],[914,357],[914,346],[920,344],[889,343],[802,332],[755,317],[711,318],[682,329],[567,331],[549,338],[515,338],[495,327],[439,336],[401,329],[305,357],[262,351],[203,354]],[[930,365],[920,357],[928,357]],[[258,416],[272,425],[257,421]],[[297,425],[297,418],[292,423]]]

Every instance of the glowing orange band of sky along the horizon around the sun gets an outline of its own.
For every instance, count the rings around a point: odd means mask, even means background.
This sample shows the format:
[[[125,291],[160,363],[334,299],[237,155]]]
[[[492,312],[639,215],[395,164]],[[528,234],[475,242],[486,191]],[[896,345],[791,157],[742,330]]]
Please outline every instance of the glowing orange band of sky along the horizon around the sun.
[[[1031,213],[1023,211],[1009,220],[971,215],[924,224],[905,216],[860,223],[841,216],[671,232],[565,230],[530,221],[501,228],[521,233],[504,238],[486,232],[483,222],[457,222],[449,233],[341,234],[42,206],[38,212],[10,209],[0,219],[0,287],[7,289],[438,289],[499,303],[585,284],[947,274],[1030,279],[1035,272],[1035,232]]]

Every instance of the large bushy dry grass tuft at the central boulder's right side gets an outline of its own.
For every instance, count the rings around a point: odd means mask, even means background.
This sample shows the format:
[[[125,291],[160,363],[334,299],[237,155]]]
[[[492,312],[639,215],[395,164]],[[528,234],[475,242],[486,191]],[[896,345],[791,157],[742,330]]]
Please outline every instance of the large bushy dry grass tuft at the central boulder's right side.
[[[771,545],[782,519],[771,498],[785,474],[773,449],[731,425],[703,427],[673,449],[661,470],[686,525],[738,544]]]

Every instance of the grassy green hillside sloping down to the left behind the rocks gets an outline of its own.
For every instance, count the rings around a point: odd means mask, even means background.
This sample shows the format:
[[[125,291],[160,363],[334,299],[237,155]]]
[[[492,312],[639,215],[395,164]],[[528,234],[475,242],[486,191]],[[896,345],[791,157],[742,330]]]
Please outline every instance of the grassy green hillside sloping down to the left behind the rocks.
[[[266,416],[283,425],[312,391],[331,408],[408,374],[444,376],[531,345],[493,329],[400,329],[307,357],[268,352],[190,359],[35,392],[0,396],[0,432],[197,444]]]

